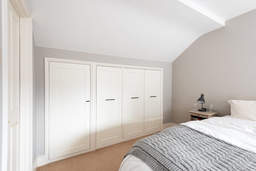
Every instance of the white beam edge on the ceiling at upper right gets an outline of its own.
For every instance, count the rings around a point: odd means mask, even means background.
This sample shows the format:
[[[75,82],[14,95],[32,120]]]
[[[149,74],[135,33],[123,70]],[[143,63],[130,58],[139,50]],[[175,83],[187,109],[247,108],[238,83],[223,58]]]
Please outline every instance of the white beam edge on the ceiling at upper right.
[[[206,9],[202,8],[201,6],[197,5],[196,3],[190,1],[190,0],[178,0],[182,2],[183,4],[189,6],[190,8],[193,8],[194,10],[200,12],[201,14],[209,17],[210,19],[220,23],[221,25],[225,26],[225,21],[221,18],[217,17],[216,15],[212,14],[211,12],[207,11]]]

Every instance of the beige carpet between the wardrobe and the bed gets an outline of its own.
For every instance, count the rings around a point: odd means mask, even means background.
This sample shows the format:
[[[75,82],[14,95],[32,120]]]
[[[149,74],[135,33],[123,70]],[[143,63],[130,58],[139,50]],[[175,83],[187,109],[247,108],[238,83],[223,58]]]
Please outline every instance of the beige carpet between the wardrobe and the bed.
[[[38,167],[37,171],[118,171],[127,151],[144,137],[52,162]]]

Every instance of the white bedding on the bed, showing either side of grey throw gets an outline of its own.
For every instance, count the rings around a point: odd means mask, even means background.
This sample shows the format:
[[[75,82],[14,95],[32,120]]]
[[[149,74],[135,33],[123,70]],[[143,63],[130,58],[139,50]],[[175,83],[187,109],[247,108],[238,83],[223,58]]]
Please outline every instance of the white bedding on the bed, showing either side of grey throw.
[[[182,124],[256,153],[256,121],[224,116]],[[123,160],[119,171],[153,170],[139,158],[128,155]]]

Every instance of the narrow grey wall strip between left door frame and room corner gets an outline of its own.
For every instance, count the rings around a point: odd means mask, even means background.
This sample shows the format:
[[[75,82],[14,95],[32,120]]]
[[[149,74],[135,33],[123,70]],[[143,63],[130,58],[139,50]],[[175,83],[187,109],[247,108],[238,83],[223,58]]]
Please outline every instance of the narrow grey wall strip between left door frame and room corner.
[[[36,159],[36,44],[33,35],[33,163]]]

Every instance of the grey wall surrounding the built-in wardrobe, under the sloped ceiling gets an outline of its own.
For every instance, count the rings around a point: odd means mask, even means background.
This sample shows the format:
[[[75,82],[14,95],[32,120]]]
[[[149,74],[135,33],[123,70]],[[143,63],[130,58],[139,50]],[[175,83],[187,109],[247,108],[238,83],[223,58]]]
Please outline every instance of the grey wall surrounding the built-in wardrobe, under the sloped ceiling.
[[[163,68],[163,119],[171,122],[172,63],[36,47],[37,155],[44,154],[44,57]]]

